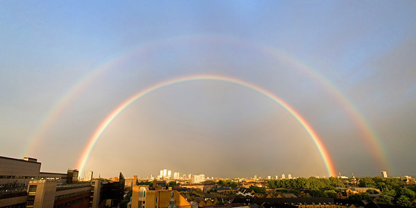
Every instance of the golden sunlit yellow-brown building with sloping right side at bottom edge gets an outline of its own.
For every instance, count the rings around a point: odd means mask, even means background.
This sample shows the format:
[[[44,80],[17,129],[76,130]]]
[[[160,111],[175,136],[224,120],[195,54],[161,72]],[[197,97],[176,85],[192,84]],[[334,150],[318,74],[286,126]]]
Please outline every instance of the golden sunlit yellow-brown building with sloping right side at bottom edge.
[[[191,208],[176,190],[150,191],[147,186],[134,186],[131,208]]]

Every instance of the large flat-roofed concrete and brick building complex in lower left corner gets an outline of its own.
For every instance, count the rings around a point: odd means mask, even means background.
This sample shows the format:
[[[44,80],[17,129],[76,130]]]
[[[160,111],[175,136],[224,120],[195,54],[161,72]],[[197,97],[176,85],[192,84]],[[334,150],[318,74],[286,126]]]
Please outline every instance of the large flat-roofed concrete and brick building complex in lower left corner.
[[[40,162],[37,159],[0,157],[0,207],[113,206],[123,200],[122,173],[119,180],[120,182],[78,182],[77,170],[70,169],[67,174],[44,173],[40,172]]]

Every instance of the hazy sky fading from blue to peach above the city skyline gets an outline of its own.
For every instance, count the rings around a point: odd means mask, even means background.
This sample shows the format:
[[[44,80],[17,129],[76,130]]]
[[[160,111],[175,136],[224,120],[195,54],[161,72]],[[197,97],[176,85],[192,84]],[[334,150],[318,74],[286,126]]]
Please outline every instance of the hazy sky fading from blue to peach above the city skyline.
[[[215,74],[294,107],[337,172],[415,175],[415,10],[416,1],[0,1],[0,155],[65,172],[128,97],[171,78]],[[108,126],[85,168],[103,177],[162,168],[327,175],[283,107],[218,80],[139,99]]]

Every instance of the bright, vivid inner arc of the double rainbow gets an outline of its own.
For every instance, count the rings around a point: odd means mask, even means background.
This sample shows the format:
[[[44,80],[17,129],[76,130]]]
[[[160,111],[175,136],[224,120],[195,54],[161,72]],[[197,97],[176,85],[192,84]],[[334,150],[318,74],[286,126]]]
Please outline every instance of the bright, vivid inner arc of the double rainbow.
[[[291,107],[288,103],[286,103],[281,98],[277,97],[275,94],[272,94],[272,92],[269,92],[266,89],[263,89],[257,85],[254,85],[252,83],[245,82],[244,80],[239,80],[236,78],[229,78],[227,76],[218,76],[218,75],[195,75],[195,76],[184,76],[180,78],[173,78],[171,80],[166,80],[161,83],[157,83],[155,85],[152,85],[150,87],[147,87],[146,89],[141,90],[137,94],[130,96],[130,98],[126,99],[121,103],[118,107],[116,107],[110,114],[108,114],[105,119],[101,122],[100,125],[98,125],[98,128],[94,131],[94,134],[92,137],[89,138],[89,141],[87,142],[87,146],[85,146],[85,149],[83,150],[83,153],[80,155],[78,162],[76,164],[76,167],[80,172],[83,172],[83,169],[85,168],[85,165],[87,164],[87,161],[89,159],[89,155],[91,155],[92,150],[98,141],[98,139],[103,135],[103,132],[105,129],[114,121],[116,116],[121,114],[125,108],[129,107],[132,103],[137,101],[139,98],[146,96],[146,94],[149,94],[150,92],[155,91],[156,89],[160,89],[162,87],[167,87],[169,85],[177,84],[177,83],[183,83],[183,82],[189,82],[194,80],[218,80],[223,81],[227,83],[234,83],[236,85],[241,85],[244,87],[248,87],[255,92],[258,92],[259,94],[263,94],[264,96],[267,96],[272,101],[275,101],[275,103],[279,104],[281,107],[283,107],[287,112],[289,112],[299,123],[302,125],[302,128],[307,132],[309,137],[311,137],[313,144],[317,148],[320,157],[322,159],[322,162],[326,168],[327,174],[329,176],[335,176],[336,170],[333,166],[333,162],[331,161],[331,158],[329,157],[329,153],[327,149],[325,148],[324,144],[322,143],[322,140],[320,137],[318,137],[318,134],[313,130],[311,125],[306,121],[306,119],[303,118],[303,116],[295,110],[295,108]]]

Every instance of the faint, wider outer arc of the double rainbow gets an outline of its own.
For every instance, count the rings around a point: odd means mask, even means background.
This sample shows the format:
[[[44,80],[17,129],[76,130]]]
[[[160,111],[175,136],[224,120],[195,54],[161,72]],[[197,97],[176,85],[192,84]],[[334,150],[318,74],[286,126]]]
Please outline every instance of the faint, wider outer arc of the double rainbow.
[[[202,41],[202,42],[214,42],[214,43],[231,43],[231,44],[239,44],[243,46],[249,46],[252,49],[258,50],[266,55],[270,55],[278,60],[282,60],[291,64],[295,67],[295,69],[299,69],[302,73],[309,76],[309,78],[317,81],[318,84],[322,86],[326,92],[331,95],[332,98],[336,99],[336,101],[343,107],[345,112],[348,113],[349,117],[356,123],[356,126],[363,135],[363,141],[366,141],[367,147],[370,149],[372,155],[374,155],[374,159],[379,164],[379,168],[389,170],[390,165],[388,163],[388,158],[384,154],[383,146],[381,145],[381,141],[377,138],[376,133],[372,130],[371,126],[363,115],[358,111],[358,109],[354,106],[354,104],[349,101],[349,99],[342,93],[340,90],[331,83],[330,80],[324,78],[320,73],[316,70],[312,69],[311,67],[307,66],[306,64],[300,62],[295,58],[292,58],[291,55],[284,53],[284,51],[278,51],[276,49],[270,48],[268,46],[262,46],[259,44],[255,44],[252,42],[247,42],[246,40],[239,40],[236,37],[226,37],[224,35],[187,35],[187,36],[180,36],[180,37],[172,37],[166,40],[156,40],[153,42],[146,42],[141,46],[133,46],[128,51],[122,51],[119,55],[112,56],[106,62],[103,62],[100,66],[93,69],[91,72],[87,73],[83,78],[80,78],[72,87],[70,87],[67,92],[62,94],[62,96],[54,103],[51,109],[46,113],[40,124],[35,128],[33,134],[28,138],[28,142],[26,148],[23,149],[23,155],[33,155],[33,150],[37,144],[40,144],[40,139],[45,135],[47,130],[49,130],[55,120],[58,119],[58,116],[63,112],[63,110],[68,107],[69,103],[73,101],[83,90],[92,83],[93,80],[101,76],[106,71],[113,69],[119,63],[123,62],[126,58],[130,55],[134,55],[135,53],[139,53],[142,55],[146,55],[151,53],[151,51],[155,49],[159,49],[162,46],[168,46],[170,44],[177,44],[177,43],[189,43],[191,41]],[[153,85],[155,86],[155,85]],[[147,88],[149,89],[149,88]],[[267,92],[267,91],[265,91]],[[279,103],[280,104],[280,103]],[[306,128],[305,128],[306,129]],[[89,142],[90,143],[90,142]],[[89,144],[88,144],[89,145]],[[85,155],[83,155],[84,157]],[[80,162],[78,162],[78,166]],[[85,165],[85,162],[84,162]]]

